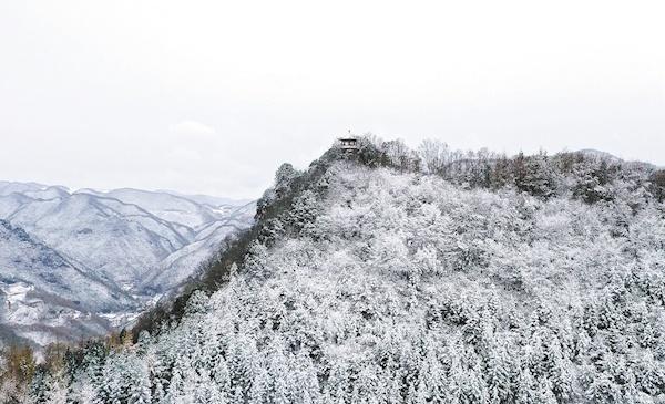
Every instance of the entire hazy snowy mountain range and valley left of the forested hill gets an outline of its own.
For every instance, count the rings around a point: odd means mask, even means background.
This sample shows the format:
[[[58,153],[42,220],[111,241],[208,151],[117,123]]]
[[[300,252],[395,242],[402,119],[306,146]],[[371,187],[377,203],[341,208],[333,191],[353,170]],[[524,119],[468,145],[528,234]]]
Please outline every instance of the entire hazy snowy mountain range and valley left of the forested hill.
[[[102,334],[193,276],[255,204],[0,182],[0,340]]]

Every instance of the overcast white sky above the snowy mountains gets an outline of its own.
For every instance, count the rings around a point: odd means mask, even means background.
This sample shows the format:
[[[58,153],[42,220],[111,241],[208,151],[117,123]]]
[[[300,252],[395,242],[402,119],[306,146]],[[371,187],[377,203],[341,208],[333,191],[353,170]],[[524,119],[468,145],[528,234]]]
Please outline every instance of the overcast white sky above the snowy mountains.
[[[256,197],[351,128],[665,165],[663,1],[1,1],[0,179]]]

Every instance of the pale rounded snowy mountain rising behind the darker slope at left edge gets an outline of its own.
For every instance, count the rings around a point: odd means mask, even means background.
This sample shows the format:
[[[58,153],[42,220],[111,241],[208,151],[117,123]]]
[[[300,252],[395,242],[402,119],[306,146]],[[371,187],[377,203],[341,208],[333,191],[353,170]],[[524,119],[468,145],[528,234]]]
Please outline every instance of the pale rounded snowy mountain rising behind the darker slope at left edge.
[[[34,200],[7,219],[125,289],[187,244],[168,222],[135,205],[86,194]]]

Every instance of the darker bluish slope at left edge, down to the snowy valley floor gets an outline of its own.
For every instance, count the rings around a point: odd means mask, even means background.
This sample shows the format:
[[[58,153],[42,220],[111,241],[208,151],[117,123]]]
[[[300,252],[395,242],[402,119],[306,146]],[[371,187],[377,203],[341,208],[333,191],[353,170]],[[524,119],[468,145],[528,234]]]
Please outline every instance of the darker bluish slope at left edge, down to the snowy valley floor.
[[[92,278],[23,229],[0,220],[0,324],[16,336],[47,343],[109,332],[94,313],[133,309],[134,299]]]

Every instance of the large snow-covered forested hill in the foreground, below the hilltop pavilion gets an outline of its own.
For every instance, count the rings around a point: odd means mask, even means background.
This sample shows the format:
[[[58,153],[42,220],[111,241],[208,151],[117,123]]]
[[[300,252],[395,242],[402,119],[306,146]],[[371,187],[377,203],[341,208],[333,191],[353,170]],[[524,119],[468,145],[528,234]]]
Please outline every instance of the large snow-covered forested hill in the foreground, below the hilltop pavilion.
[[[122,341],[6,355],[33,403],[663,403],[665,175],[367,137]]]

